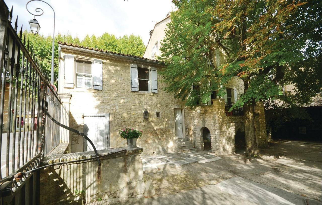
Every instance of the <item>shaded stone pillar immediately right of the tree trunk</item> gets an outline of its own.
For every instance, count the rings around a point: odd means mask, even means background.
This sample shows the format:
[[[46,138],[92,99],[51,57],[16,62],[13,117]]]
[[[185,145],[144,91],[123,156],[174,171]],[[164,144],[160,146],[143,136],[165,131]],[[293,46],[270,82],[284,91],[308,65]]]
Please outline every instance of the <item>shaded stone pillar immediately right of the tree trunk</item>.
[[[268,135],[266,132],[265,109],[263,102],[255,104],[255,136],[259,147],[267,146]]]

